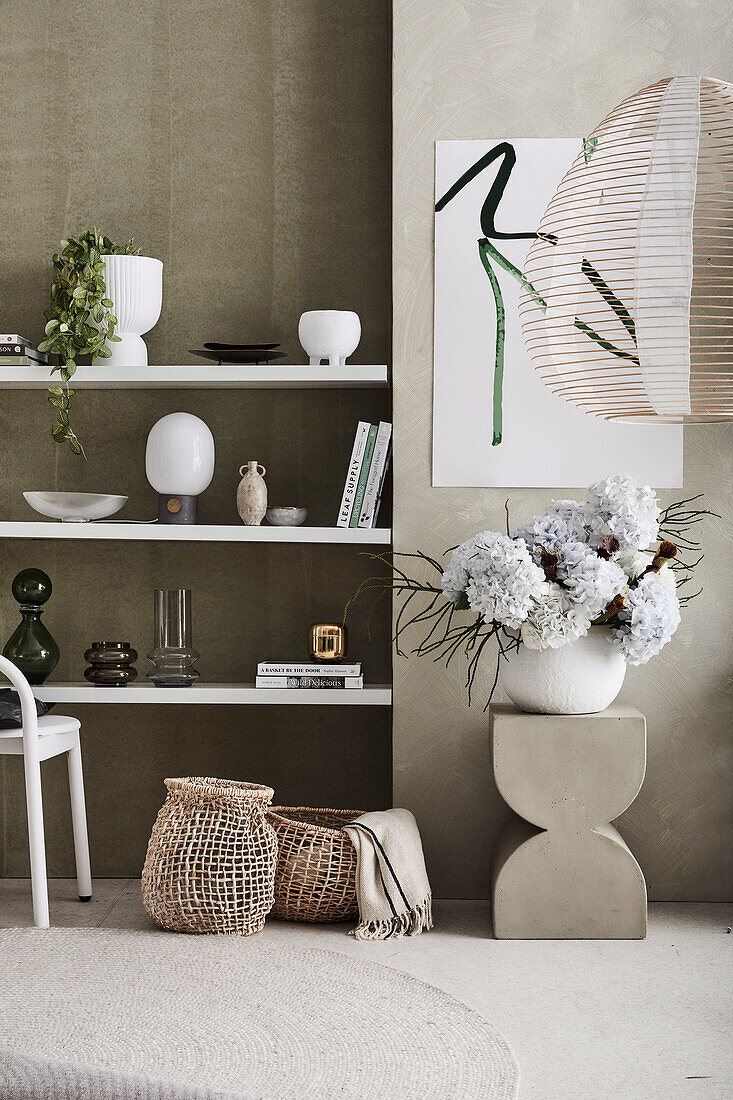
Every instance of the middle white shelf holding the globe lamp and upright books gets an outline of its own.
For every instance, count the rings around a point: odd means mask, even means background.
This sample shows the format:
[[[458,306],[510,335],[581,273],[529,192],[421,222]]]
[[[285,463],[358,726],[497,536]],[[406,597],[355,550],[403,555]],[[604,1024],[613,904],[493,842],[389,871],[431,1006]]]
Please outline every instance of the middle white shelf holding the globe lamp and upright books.
[[[152,542],[330,542],[389,546],[390,527],[245,527],[244,524],[63,524],[58,520],[0,522],[0,539],[130,539]]]

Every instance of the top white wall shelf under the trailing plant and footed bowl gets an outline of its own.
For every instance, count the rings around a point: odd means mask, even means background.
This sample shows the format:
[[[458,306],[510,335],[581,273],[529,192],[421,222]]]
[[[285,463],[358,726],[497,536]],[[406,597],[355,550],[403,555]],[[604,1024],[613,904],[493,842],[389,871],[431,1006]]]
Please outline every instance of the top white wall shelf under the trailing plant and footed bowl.
[[[2,366],[0,389],[46,389],[58,385],[46,366]],[[386,386],[386,366],[79,366],[75,389],[325,389]]]

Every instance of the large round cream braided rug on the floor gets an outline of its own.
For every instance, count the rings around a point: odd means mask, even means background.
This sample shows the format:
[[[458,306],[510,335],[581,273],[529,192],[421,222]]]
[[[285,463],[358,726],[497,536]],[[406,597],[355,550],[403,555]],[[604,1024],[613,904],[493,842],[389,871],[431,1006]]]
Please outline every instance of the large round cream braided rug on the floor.
[[[504,1038],[335,952],[107,928],[0,932],[0,1044],[262,1100],[511,1100]]]

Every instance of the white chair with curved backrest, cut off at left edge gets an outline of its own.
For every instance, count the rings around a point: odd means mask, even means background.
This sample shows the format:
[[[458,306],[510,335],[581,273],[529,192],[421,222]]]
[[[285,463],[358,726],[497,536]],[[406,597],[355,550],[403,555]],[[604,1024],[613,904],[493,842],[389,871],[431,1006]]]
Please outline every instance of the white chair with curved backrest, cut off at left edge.
[[[61,714],[47,714],[39,718],[35,712],[33,691],[20,669],[6,657],[0,657],[0,673],[10,680],[21,701],[23,728],[0,729],[0,756],[23,757],[28,838],[31,849],[33,923],[37,928],[47,928],[48,883],[46,880],[46,845],[41,799],[41,761],[61,756],[62,752],[67,754],[79,901],[89,901],[91,898],[91,869],[89,867],[87,811],[81,774],[79,722],[77,718],[67,718]]]

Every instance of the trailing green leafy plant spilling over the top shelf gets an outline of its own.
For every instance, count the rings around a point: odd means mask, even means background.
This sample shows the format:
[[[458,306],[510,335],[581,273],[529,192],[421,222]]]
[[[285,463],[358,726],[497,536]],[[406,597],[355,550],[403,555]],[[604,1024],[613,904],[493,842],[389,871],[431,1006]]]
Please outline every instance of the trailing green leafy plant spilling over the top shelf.
[[[76,373],[80,355],[92,359],[109,359],[109,344],[119,341],[114,336],[117,318],[112,314],[113,302],[105,287],[105,261],[102,255],[134,256],[140,249],[133,248],[132,238],[127,244],[113,244],[97,227],[69,237],[61,242],[61,251],[53,257],[54,279],[51,284],[51,306],[45,310],[45,339],[39,344],[40,351],[52,352],[58,363],[51,370],[52,376],[58,372],[63,385],[51,386],[48,402],[56,409],[56,422],[51,435],[57,443],[68,443],[74,454],[84,454],[84,448],[69,424],[68,410],[76,391],[69,388],[69,380]]]

